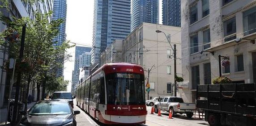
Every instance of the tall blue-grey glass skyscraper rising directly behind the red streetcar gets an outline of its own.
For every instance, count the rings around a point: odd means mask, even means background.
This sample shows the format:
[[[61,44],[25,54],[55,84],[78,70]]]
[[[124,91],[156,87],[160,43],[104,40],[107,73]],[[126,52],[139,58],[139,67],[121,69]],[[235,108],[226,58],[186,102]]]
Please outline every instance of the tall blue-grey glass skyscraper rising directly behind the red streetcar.
[[[130,33],[131,0],[94,0],[92,64],[115,39]]]

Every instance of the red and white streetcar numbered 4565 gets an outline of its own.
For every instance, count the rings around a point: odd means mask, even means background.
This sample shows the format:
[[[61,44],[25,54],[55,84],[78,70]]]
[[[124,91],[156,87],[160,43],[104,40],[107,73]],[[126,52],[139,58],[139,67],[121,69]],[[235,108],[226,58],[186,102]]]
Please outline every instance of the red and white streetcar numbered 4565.
[[[77,105],[105,124],[146,121],[144,70],[130,63],[107,63],[77,86]]]

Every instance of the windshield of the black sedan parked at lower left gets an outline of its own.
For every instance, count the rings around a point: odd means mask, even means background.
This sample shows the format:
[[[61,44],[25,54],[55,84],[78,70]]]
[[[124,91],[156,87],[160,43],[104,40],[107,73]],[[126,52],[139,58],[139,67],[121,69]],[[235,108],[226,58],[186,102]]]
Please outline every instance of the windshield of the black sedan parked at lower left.
[[[38,115],[65,115],[70,114],[71,110],[68,103],[40,102],[30,109],[29,114]]]

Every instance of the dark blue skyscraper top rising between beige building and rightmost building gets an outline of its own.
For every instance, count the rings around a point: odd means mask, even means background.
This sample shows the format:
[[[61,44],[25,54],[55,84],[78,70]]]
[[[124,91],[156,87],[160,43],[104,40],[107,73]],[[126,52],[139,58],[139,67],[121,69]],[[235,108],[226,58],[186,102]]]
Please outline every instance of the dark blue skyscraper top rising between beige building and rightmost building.
[[[162,0],[162,24],[180,27],[180,0]]]

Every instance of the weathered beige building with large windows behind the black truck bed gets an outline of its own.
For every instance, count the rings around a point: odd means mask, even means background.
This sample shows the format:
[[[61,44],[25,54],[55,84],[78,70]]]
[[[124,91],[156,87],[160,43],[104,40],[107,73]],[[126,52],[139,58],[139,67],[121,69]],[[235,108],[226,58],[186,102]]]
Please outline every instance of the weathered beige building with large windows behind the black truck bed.
[[[195,102],[196,85],[211,84],[219,74],[218,55],[229,65],[222,76],[234,83],[256,82],[256,1],[181,0],[182,72]],[[221,63],[225,58],[221,58]]]

